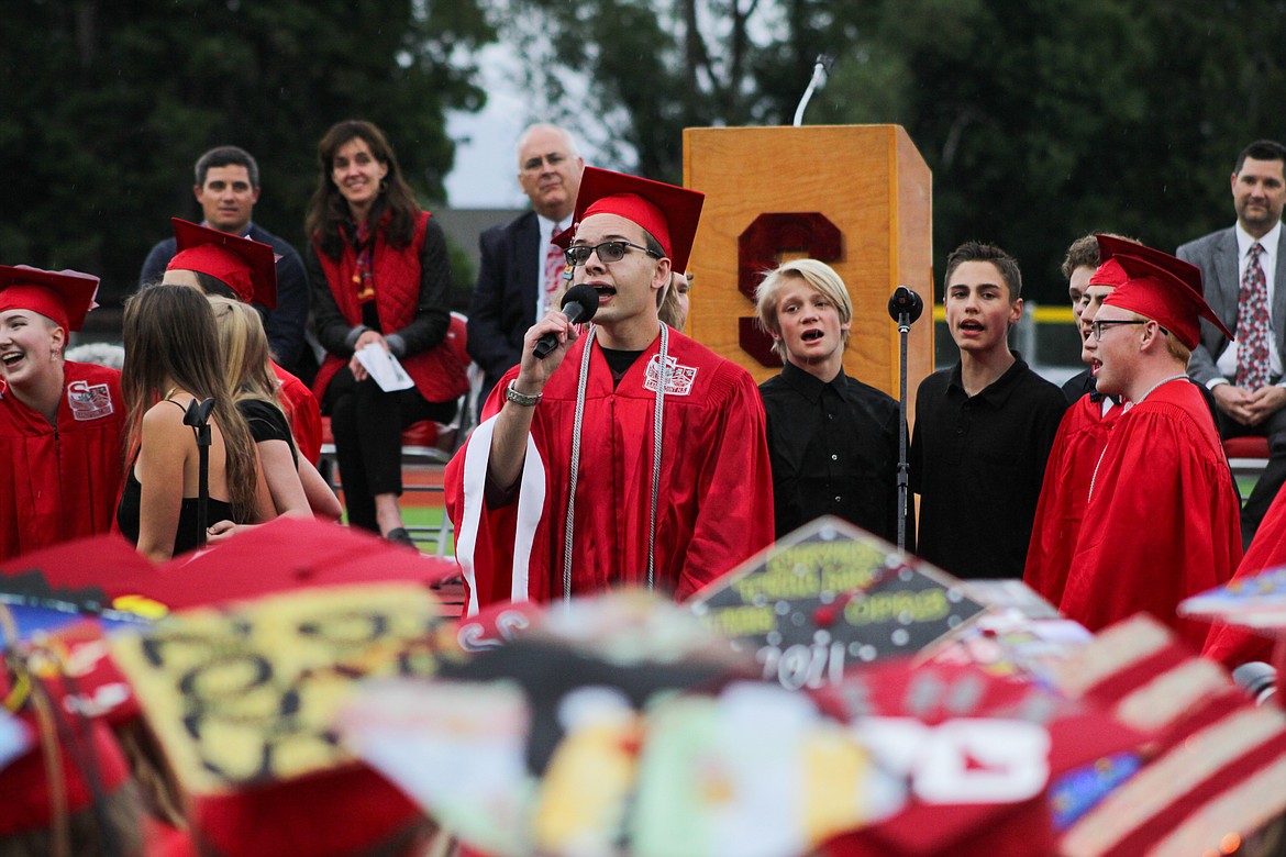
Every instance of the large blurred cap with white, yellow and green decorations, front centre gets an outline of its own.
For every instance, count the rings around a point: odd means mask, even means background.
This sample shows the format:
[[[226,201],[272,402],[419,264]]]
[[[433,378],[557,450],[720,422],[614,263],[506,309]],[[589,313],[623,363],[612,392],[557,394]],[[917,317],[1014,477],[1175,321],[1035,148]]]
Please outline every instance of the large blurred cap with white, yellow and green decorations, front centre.
[[[625,591],[373,686],[340,730],[493,854],[804,853],[900,806],[847,730],[754,672],[683,608]]]

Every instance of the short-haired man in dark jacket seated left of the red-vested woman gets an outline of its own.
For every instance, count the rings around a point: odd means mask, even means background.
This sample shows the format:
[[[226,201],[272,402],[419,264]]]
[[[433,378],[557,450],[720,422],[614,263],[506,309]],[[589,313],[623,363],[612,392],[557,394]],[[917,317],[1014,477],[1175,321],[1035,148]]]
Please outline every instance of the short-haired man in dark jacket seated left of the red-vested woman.
[[[264,317],[273,357],[283,369],[307,383],[318,370],[316,357],[305,342],[309,275],[288,242],[251,222],[255,203],[258,202],[258,163],[244,149],[221,145],[197,159],[195,177],[192,193],[201,204],[204,226],[269,244],[276,253],[276,308],[260,305],[255,308]],[[139,284],[159,281],[174,254],[174,238],[158,242],[143,262]]]

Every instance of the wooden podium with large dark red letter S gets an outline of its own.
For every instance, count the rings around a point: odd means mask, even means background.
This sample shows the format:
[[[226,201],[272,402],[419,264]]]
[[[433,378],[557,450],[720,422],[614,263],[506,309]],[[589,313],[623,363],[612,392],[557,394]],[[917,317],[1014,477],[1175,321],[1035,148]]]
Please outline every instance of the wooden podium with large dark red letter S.
[[[763,382],[779,371],[754,289],[790,258],[833,267],[853,298],[844,370],[898,397],[889,297],[925,301],[907,353],[908,406],[934,370],[932,176],[896,125],[685,128],[684,185],[706,193],[688,333]],[[765,361],[769,365],[765,365]]]

